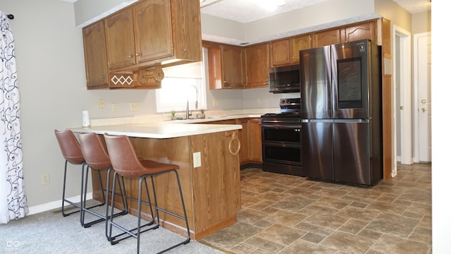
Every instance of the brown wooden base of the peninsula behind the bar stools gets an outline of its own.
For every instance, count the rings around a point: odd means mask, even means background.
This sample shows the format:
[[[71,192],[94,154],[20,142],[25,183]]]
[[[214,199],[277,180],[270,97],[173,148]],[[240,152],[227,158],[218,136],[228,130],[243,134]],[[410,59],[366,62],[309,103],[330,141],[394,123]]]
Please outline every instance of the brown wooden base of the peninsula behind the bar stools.
[[[179,138],[130,138],[138,157],[180,166],[178,174],[191,238],[194,240],[237,222],[237,210],[241,209],[239,147],[235,142],[237,134],[237,131],[223,131]],[[201,152],[200,167],[193,166],[193,152]],[[163,174],[154,179],[159,206],[183,214],[175,175]],[[106,173],[103,176],[105,183]],[[150,179],[147,183],[152,188]],[[138,186],[139,179],[125,179],[127,195],[137,198]],[[101,200],[97,172],[92,174],[92,188],[93,198]],[[145,195],[143,198],[146,199]],[[120,200],[115,200],[115,207],[121,208]],[[151,202],[154,204],[152,193]],[[136,202],[129,200],[128,207],[130,214],[137,214]],[[143,206],[142,217],[150,219],[150,214],[149,207]],[[165,213],[160,213],[160,216],[161,226],[165,229],[186,235],[183,220]]]

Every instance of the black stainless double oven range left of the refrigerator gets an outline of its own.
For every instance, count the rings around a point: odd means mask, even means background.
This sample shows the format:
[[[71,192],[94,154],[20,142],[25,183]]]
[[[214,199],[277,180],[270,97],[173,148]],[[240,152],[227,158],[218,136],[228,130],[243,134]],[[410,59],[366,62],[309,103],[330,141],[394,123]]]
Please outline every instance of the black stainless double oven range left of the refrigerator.
[[[302,168],[300,98],[280,99],[280,113],[261,116],[262,169],[305,176]]]

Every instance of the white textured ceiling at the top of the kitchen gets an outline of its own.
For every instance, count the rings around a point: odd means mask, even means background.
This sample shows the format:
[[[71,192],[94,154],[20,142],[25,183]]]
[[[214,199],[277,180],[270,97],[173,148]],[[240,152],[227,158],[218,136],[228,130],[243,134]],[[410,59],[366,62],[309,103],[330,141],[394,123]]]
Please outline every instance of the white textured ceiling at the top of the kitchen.
[[[281,1],[285,2],[285,5],[277,6]],[[324,1],[326,0],[204,0],[201,3],[201,13],[239,23],[249,23]],[[412,14],[431,11],[430,0],[393,1]]]

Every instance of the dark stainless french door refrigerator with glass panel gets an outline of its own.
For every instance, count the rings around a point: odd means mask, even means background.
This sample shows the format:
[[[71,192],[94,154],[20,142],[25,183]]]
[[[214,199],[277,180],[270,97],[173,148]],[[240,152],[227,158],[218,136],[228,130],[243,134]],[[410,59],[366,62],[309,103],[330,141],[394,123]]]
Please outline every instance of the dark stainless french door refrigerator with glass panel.
[[[299,52],[307,176],[371,186],[382,179],[381,47],[370,40]]]

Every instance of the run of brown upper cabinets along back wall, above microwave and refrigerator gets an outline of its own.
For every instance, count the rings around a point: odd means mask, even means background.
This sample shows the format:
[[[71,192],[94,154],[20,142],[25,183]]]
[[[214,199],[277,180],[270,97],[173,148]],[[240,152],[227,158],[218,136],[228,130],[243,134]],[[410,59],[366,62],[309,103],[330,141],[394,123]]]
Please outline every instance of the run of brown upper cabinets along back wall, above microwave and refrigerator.
[[[268,68],[299,64],[302,49],[362,39],[376,41],[376,26],[376,20],[369,20],[247,47],[204,41],[210,89],[268,87]]]

